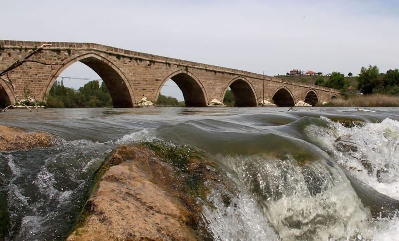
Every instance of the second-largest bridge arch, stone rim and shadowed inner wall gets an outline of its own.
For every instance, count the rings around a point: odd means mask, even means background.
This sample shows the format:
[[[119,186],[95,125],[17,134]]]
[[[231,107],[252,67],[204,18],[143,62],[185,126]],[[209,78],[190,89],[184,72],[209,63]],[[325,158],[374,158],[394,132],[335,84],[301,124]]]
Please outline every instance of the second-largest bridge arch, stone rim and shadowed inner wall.
[[[162,87],[169,79],[172,79],[182,91],[186,107],[207,106],[206,102],[208,97],[201,81],[193,73],[183,69],[170,73],[164,78],[158,87],[157,95],[155,96],[156,100],[158,100],[161,94]]]

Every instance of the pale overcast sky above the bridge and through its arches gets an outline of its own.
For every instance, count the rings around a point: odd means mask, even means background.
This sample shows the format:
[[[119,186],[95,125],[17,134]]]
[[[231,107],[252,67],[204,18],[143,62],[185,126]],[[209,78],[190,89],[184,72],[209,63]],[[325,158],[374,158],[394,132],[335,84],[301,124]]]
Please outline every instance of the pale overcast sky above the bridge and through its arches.
[[[0,2],[2,39],[94,42],[271,76],[399,68],[397,0]],[[85,67],[62,75],[98,78]]]

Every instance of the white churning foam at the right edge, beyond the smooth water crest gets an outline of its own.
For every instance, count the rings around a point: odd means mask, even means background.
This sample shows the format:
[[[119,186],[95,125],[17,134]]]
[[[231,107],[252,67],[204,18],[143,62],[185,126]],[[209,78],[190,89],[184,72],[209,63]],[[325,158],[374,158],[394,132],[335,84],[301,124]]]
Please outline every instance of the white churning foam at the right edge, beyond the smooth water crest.
[[[353,177],[399,200],[399,122],[387,118],[348,128],[323,119],[329,128],[311,125],[307,134],[333,152]]]

